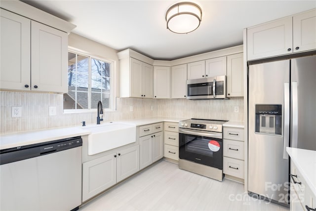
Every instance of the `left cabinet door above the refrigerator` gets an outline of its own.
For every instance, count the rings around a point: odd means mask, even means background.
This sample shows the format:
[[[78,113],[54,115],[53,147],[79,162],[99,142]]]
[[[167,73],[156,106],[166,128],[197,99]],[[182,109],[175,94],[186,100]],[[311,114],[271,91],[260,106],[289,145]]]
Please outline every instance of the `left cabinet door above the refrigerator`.
[[[292,17],[247,29],[247,60],[292,52]]]

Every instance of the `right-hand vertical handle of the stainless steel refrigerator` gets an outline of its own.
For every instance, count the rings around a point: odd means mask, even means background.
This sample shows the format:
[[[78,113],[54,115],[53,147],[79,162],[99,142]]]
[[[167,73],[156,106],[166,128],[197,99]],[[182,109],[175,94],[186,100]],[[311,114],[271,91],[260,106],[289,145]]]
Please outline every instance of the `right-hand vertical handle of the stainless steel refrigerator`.
[[[291,147],[297,148],[297,137],[298,137],[297,82],[292,82],[292,143],[291,143]]]

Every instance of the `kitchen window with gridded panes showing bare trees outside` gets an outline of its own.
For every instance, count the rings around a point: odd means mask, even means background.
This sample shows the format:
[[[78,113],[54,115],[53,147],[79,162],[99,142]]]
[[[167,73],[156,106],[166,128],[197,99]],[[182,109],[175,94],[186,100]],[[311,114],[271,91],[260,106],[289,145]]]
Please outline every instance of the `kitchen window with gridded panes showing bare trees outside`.
[[[64,94],[64,111],[115,108],[113,99],[113,62],[77,52],[68,52],[68,93]]]

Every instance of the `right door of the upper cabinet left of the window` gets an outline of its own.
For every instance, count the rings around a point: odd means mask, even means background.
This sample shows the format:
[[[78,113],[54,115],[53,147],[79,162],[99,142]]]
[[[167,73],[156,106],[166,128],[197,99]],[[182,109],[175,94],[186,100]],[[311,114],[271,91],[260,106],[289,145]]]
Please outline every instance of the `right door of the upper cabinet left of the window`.
[[[68,92],[68,35],[31,21],[32,90]]]

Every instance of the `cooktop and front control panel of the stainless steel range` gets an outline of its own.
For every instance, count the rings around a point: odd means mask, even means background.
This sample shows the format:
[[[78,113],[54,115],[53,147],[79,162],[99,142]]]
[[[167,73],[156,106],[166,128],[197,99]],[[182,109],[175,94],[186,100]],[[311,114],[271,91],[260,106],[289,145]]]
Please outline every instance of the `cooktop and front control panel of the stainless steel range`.
[[[222,132],[225,120],[189,119],[179,122],[180,128]]]

